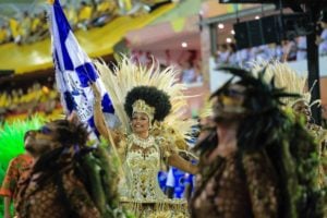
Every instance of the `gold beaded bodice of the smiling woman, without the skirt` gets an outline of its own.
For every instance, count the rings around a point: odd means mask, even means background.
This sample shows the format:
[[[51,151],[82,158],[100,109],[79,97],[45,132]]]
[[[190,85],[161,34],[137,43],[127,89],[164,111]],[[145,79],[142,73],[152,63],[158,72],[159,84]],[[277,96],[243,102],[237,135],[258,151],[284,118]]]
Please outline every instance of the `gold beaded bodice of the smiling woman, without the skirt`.
[[[121,194],[137,201],[160,201],[167,198],[158,183],[161,150],[154,136],[142,140],[134,134],[128,137],[124,169],[126,180]]]

